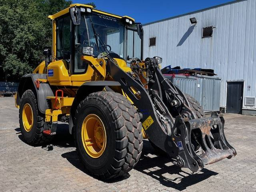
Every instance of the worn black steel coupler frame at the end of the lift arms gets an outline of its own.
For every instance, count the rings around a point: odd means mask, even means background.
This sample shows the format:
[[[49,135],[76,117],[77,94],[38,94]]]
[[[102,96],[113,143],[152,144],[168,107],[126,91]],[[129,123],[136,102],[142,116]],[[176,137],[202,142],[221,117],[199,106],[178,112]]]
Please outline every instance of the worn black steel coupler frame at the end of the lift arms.
[[[213,112],[209,118],[189,120],[176,117],[173,140],[178,147],[177,165],[193,172],[224,158],[232,158],[236,150],[224,135],[224,118]]]

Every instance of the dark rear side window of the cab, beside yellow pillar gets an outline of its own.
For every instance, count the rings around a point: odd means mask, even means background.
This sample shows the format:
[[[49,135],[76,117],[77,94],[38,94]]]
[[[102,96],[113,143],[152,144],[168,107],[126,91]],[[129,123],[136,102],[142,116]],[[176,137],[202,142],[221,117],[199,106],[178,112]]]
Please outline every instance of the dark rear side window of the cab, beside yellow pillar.
[[[56,21],[57,59],[70,59],[70,16]]]

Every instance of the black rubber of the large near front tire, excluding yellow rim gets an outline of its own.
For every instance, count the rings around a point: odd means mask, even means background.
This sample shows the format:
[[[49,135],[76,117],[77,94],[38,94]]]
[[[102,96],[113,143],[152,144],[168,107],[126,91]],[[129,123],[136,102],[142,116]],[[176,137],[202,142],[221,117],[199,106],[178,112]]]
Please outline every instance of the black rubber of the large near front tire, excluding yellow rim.
[[[98,158],[89,156],[82,144],[82,123],[89,114],[97,115],[106,130],[106,148]],[[85,169],[101,179],[129,172],[142,153],[140,116],[131,102],[116,92],[92,93],[80,102],[74,117],[74,138]]]

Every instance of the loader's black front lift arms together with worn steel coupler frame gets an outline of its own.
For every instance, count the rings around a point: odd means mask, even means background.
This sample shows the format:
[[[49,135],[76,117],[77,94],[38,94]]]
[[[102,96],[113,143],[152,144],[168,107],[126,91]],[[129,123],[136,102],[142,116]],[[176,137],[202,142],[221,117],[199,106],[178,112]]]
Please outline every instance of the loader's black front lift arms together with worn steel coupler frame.
[[[164,78],[155,58],[131,63],[129,74],[114,62],[109,62],[106,69],[138,108],[144,131],[154,146],[176,160],[178,166],[193,172],[236,155],[225,138],[221,113],[196,118],[186,95]]]

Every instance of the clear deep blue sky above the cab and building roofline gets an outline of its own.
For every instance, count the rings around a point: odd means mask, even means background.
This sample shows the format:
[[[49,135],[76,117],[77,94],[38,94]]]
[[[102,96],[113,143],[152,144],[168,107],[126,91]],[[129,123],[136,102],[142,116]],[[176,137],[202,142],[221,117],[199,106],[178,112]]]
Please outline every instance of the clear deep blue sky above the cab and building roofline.
[[[94,2],[96,9],[128,15],[142,24],[208,8],[232,0],[73,0],[73,3]]]

